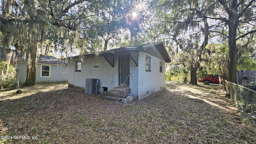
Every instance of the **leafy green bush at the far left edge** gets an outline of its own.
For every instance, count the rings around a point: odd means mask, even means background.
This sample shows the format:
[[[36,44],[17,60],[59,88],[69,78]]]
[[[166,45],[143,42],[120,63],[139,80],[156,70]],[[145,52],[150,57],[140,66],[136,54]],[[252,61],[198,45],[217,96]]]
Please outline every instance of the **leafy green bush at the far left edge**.
[[[7,63],[5,61],[0,62],[0,88],[10,88],[15,84],[16,72],[13,66],[9,65],[8,76],[7,72]]]

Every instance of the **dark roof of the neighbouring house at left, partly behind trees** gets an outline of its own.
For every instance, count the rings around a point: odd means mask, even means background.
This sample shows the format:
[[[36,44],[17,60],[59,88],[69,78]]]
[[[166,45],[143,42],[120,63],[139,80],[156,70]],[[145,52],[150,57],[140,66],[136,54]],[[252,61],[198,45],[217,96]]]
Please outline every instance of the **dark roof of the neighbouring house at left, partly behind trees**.
[[[14,52],[12,52],[11,60],[14,60]],[[6,60],[6,50],[4,50],[4,53],[2,54],[0,52],[0,60]],[[26,58],[24,54],[18,53],[18,62],[26,62]],[[38,56],[37,63],[44,63],[44,64],[63,64],[65,65],[65,62],[59,58],[53,57],[53,56],[45,56],[41,55]],[[66,62],[66,65],[68,65],[68,62]]]

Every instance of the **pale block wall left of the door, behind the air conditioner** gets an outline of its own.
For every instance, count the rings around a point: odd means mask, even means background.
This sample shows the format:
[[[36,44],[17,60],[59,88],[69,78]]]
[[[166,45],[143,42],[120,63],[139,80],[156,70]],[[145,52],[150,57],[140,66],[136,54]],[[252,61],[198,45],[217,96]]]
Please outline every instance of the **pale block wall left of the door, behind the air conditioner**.
[[[94,67],[95,57],[86,57],[82,62],[81,72],[75,72],[75,65],[70,64],[68,72],[68,83],[74,86],[85,88],[86,78],[99,79],[99,91],[103,92],[102,87],[107,87],[108,90],[113,90],[118,86],[118,55],[115,56],[114,68],[104,59],[99,56],[98,67]]]

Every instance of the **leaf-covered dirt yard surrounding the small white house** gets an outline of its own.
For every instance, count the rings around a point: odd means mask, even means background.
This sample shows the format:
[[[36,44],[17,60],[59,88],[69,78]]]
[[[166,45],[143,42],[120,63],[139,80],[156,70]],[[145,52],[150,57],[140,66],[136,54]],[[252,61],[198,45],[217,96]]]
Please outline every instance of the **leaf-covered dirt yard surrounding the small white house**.
[[[0,91],[0,143],[253,144],[222,86],[166,83],[131,103],[109,102],[67,84]]]

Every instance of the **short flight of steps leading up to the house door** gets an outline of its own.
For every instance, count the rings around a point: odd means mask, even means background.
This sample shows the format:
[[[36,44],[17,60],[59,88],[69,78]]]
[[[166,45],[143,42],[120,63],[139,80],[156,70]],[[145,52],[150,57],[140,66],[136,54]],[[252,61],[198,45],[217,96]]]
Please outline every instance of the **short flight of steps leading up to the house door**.
[[[110,90],[108,94],[104,97],[105,100],[113,102],[121,102],[122,99],[130,92],[130,87],[124,86],[114,87],[114,90]]]

